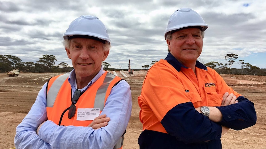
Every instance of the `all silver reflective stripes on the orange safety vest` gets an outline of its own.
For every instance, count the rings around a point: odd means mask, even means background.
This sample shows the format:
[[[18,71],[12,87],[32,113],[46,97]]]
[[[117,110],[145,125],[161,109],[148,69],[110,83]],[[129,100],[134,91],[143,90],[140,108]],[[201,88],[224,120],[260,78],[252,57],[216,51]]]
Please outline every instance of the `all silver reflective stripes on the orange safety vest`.
[[[46,107],[53,107],[54,102],[56,100],[56,96],[64,83],[64,81],[69,77],[69,73],[65,73],[63,75],[58,76],[52,86],[49,89],[49,92],[47,93],[46,97]],[[94,107],[100,108],[100,111],[103,110],[104,108],[104,99],[106,96],[106,91],[107,88],[112,80],[114,80],[115,75],[111,73],[107,73],[102,85],[98,88],[96,96],[95,96],[95,101],[94,101]],[[118,140],[118,143],[114,146],[114,149],[122,149],[123,146],[123,141],[124,141],[124,134],[123,136]]]

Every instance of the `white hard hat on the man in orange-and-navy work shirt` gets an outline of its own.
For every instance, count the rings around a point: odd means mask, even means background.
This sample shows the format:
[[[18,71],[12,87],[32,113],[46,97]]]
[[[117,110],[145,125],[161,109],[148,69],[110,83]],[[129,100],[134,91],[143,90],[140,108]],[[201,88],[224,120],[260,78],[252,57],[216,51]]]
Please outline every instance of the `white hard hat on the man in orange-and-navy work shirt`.
[[[205,31],[209,27],[203,18],[191,8],[178,9],[168,19],[168,24],[164,31],[164,38],[166,39],[165,35],[170,31],[190,26],[200,26],[202,27],[202,31]]]

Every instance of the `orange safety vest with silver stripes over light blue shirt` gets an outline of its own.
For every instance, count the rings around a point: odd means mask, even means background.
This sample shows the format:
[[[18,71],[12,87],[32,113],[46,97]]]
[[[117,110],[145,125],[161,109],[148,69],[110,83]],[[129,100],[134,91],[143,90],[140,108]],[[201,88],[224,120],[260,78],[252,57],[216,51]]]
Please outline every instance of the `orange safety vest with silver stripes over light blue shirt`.
[[[72,91],[68,82],[69,74],[70,72],[54,76],[48,80],[46,97],[48,120],[52,120],[58,125],[87,127],[93,120],[77,121],[77,111],[75,116],[71,119],[68,118],[69,107],[72,103]],[[105,72],[79,97],[78,102],[75,104],[76,109],[100,108],[101,113],[111,89],[121,80],[118,76]],[[114,146],[114,149],[122,149],[124,134]]]

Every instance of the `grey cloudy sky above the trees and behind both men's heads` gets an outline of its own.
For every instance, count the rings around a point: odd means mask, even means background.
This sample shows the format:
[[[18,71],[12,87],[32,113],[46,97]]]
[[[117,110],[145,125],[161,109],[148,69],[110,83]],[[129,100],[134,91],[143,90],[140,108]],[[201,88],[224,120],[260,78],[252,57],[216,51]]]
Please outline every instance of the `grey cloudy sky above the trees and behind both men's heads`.
[[[164,30],[177,9],[197,11],[209,28],[205,31],[202,63],[225,64],[234,53],[259,68],[266,68],[265,0],[1,0],[0,54],[22,62],[54,55],[56,65],[72,66],[62,45],[69,24],[84,14],[97,16],[111,39],[106,61],[110,68],[141,69],[164,59]],[[240,68],[236,62],[232,68]]]

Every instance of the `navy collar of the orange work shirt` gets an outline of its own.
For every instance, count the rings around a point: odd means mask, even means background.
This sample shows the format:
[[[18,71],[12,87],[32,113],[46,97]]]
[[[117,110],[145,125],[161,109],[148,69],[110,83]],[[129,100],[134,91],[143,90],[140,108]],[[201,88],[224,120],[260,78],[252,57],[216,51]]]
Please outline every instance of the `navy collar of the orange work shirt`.
[[[188,67],[184,66],[179,61],[177,61],[177,59],[174,56],[172,56],[170,52],[167,54],[164,60],[166,60],[170,65],[172,65],[178,72],[180,72],[181,67],[188,69]],[[196,67],[207,71],[207,67],[199,61],[196,61]]]

